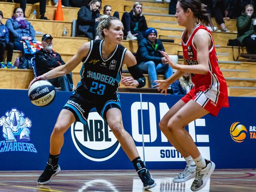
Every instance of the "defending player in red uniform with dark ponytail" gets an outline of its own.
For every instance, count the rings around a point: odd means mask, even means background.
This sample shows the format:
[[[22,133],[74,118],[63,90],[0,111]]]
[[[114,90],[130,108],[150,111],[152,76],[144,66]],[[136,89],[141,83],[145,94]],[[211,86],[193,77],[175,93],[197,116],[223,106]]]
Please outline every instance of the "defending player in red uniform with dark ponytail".
[[[169,85],[185,72],[192,74],[195,87],[171,107],[159,127],[187,162],[185,170],[173,182],[184,182],[195,177],[191,190],[197,191],[206,185],[215,164],[202,157],[185,126],[208,113],[217,116],[221,107],[228,107],[228,92],[211,32],[202,25],[213,24],[201,8],[200,0],[178,0],[175,17],[180,26],[186,27],[182,34],[184,63],[173,63],[167,53],[161,52],[177,71],[168,79],[157,80],[158,90],[166,94]]]

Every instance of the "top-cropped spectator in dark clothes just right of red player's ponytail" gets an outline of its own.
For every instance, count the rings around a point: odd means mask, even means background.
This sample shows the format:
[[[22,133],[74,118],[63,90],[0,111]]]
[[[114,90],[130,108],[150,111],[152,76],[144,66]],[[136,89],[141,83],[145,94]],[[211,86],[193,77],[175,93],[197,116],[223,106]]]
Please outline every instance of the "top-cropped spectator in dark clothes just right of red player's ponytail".
[[[223,20],[223,18],[226,17],[225,16],[225,10],[226,10],[225,1],[224,0],[212,0],[212,2],[213,2],[213,15],[216,19],[216,22],[221,27],[221,31],[230,32],[226,28],[225,22]]]

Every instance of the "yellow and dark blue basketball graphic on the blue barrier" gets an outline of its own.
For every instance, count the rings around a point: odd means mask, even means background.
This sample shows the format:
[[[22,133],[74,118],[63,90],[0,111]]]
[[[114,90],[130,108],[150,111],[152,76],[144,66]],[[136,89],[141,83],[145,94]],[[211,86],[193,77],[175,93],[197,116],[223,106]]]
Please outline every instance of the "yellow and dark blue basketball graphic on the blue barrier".
[[[231,126],[230,126],[230,135],[231,138],[237,142],[237,143],[241,143],[245,140],[246,137],[246,133],[247,133],[247,129],[245,128],[245,126],[243,126],[242,124],[239,124],[240,122],[234,122]],[[239,124],[239,125],[237,125]],[[245,133],[246,132],[246,133]]]

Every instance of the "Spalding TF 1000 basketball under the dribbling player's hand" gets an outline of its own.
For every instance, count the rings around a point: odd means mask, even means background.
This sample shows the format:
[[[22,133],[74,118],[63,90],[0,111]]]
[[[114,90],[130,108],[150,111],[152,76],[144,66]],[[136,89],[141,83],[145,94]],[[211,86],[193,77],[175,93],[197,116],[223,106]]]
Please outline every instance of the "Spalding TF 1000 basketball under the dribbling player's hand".
[[[50,104],[55,97],[55,93],[52,83],[45,80],[35,81],[28,90],[30,101],[39,107]]]

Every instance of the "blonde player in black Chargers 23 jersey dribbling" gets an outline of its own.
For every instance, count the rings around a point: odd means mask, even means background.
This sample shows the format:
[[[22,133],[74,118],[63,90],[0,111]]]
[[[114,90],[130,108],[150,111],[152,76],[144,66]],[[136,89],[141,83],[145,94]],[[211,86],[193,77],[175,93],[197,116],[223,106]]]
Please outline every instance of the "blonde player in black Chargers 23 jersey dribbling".
[[[122,22],[106,15],[100,18],[98,34],[103,40],[83,44],[66,65],[61,65],[33,79],[51,79],[71,72],[81,61],[81,81],[69,101],[61,110],[50,138],[50,155],[47,166],[37,183],[45,185],[60,172],[58,157],[63,146],[63,134],[75,121],[87,123],[89,111],[96,107],[98,113],[108,123],[122,149],[134,164],[144,189],[156,186],[148,170],[139,157],[134,140],[124,130],[117,88],[125,86],[143,87],[145,77],[136,65],[134,55],[121,45],[123,37]],[[121,76],[122,64],[126,64],[132,77]],[[29,87],[30,87],[29,86]]]

